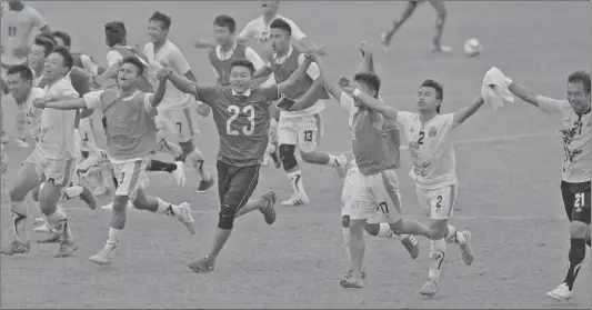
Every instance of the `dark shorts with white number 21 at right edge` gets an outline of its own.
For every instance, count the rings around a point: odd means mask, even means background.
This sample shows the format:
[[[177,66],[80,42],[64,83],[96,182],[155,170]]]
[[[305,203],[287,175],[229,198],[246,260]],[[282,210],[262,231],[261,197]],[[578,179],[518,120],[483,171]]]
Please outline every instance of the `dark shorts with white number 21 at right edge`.
[[[590,181],[581,183],[561,181],[561,194],[570,222],[590,224]]]

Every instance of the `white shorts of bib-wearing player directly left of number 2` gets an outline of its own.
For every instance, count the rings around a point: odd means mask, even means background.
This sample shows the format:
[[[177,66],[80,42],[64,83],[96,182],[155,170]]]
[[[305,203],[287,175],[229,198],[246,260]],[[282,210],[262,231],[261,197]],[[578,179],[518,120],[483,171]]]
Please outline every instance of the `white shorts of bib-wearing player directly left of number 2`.
[[[341,200],[341,214],[350,216],[350,220],[393,223],[402,217],[399,181],[393,169],[373,176],[348,171]]]

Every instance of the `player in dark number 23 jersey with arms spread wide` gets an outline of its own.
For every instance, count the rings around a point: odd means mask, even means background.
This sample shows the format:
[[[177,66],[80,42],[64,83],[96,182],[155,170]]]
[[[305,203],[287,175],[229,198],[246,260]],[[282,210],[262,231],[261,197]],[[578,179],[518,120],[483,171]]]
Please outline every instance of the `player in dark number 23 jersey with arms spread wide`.
[[[259,210],[268,224],[275,221],[275,193],[270,191],[261,199],[249,200],[259,181],[260,161],[268,146],[269,106],[302,81],[311,61],[312,53],[309,52],[288,80],[268,88],[251,88],[254,67],[245,59],[232,61],[229,86],[225,87],[199,87],[177,74],[170,76],[181,91],[198,96],[212,108],[220,136],[217,162],[220,219],[210,254],[191,262],[189,268],[193,271],[213,270],[235,218]]]

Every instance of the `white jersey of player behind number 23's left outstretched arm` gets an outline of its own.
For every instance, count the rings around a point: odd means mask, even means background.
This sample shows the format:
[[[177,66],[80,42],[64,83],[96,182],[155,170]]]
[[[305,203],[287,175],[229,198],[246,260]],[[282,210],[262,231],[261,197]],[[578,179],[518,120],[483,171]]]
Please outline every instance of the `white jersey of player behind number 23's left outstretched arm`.
[[[157,63],[164,63],[167,68],[172,69],[172,71],[180,77],[183,77],[187,72],[191,70],[189,62],[183,57],[179,48],[173,44],[171,41],[167,40],[162,48],[158,52],[154,52],[154,43],[149,42],[146,44],[143,53],[146,57]],[[149,70],[149,80],[151,83],[155,83],[155,71]],[[184,109],[191,102],[191,96],[180,91],[171,81],[167,82],[167,91],[162,98],[162,102],[159,104],[159,109]]]

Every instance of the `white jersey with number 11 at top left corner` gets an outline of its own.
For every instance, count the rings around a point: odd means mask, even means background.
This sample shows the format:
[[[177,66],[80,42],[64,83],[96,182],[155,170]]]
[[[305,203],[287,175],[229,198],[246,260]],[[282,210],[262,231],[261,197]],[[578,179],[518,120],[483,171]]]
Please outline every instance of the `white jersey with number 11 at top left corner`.
[[[41,29],[47,26],[41,14],[30,6],[24,4],[21,11],[7,10],[2,13],[2,39],[1,61],[4,66],[17,66],[27,63],[28,50],[22,54],[14,54],[14,49],[27,48],[33,40],[31,36],[33,29]]]

